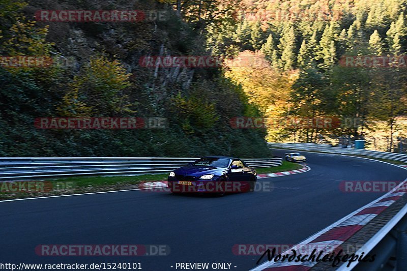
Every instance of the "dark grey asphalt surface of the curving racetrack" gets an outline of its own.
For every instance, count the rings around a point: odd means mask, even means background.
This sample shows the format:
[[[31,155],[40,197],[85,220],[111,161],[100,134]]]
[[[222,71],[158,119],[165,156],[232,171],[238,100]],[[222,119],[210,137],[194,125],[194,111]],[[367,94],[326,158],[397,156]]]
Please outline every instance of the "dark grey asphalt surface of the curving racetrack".
[[[277,156],[288,152],[293,151],[274,149]],[[248,270],[259,255],[235,255],[234,245],[297,244],[385,194],[344,193],[341,180],[407,177],[406,170],[386,163],[304,154],[310,171],[258,180],[271,191],[218,198],[135,190],[0,202],[0,262],[140,262],[142,270],[154,271],[177,270],[177,262],[227,262],[232,270]],[[166,245],[170,254],[38,256],[40,244]]]

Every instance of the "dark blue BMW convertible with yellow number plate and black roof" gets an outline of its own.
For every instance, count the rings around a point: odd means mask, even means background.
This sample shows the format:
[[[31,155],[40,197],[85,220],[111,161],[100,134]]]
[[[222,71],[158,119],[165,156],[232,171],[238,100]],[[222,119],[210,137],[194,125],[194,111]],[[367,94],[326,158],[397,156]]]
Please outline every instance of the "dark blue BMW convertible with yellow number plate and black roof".
[[[172,193],[225,193],[254,191],[256,170],[235,157],[202,157],[169,173],[168,188]]]

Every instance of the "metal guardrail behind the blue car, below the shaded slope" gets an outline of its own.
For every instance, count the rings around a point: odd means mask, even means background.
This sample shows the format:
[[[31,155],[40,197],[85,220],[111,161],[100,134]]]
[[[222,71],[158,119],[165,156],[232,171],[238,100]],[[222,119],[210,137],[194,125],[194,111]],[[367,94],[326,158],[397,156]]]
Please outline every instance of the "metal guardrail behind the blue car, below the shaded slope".
[[[10,157],[0,158],[0,180],[77,175],[163,173],[199,158],[164,157]],[[282,164],[281,157],[242,159],[252,167]]]

